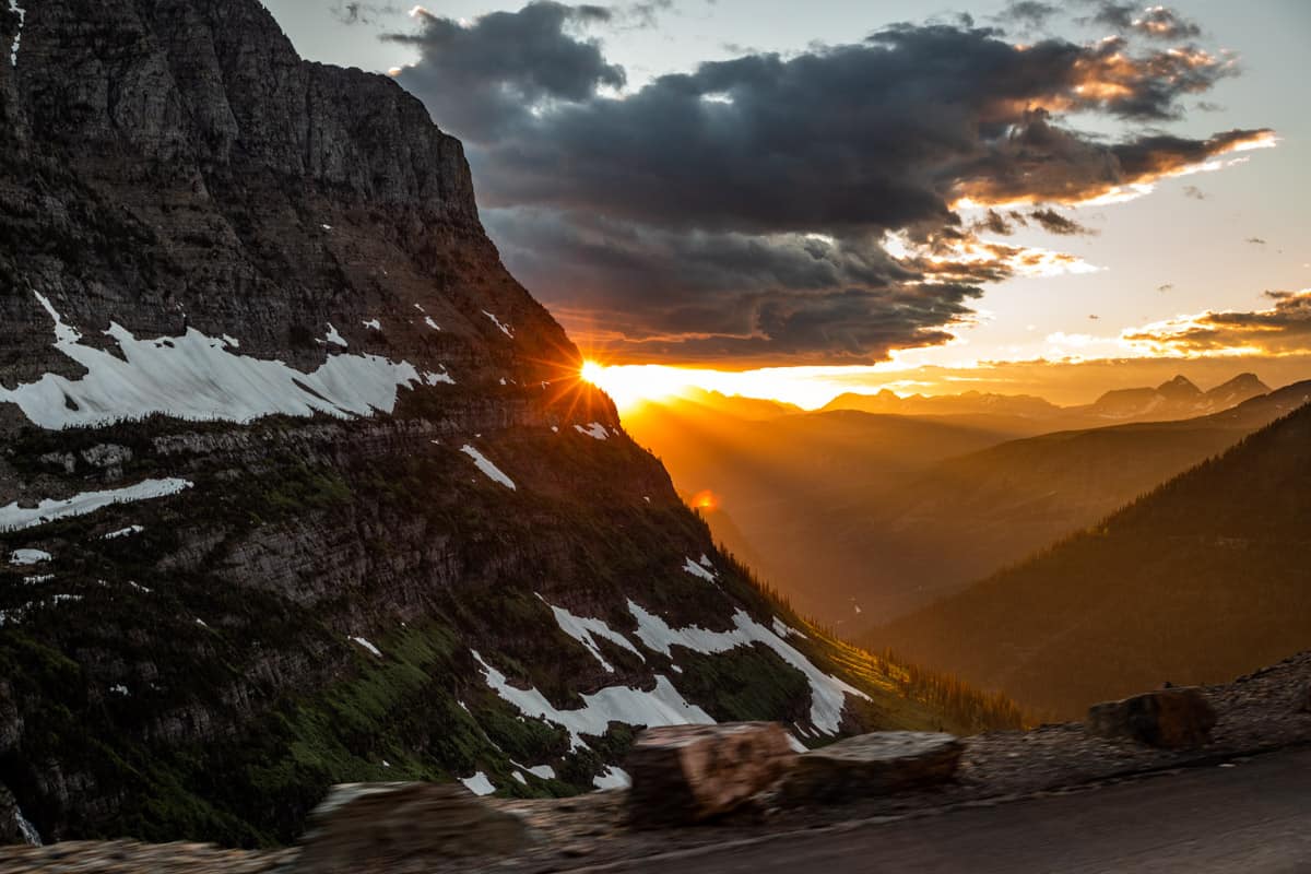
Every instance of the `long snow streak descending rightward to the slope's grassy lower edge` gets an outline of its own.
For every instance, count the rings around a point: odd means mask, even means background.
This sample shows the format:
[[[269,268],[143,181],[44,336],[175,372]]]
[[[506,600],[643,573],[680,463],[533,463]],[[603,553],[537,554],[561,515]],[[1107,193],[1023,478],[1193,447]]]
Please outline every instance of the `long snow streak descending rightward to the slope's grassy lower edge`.
[[[756,622],[746,611],[738,609],[733,613],[734,628],[728,632],[711,632],[696,625],[674,629],[659,616],[646,612],[632,600],[628,601],[628,612],[637,620],[637,639],[653,653],[670,655],[673,646],[684,646],[703,655],[726,653],[753,643],[770,647],[810,681],[810,722],[825,734],[838,734],[846,696],[853,694],[869,700],[869,696],[860,689],[817,668],[810,659],[791,643],[779,639],[777,634]]]

